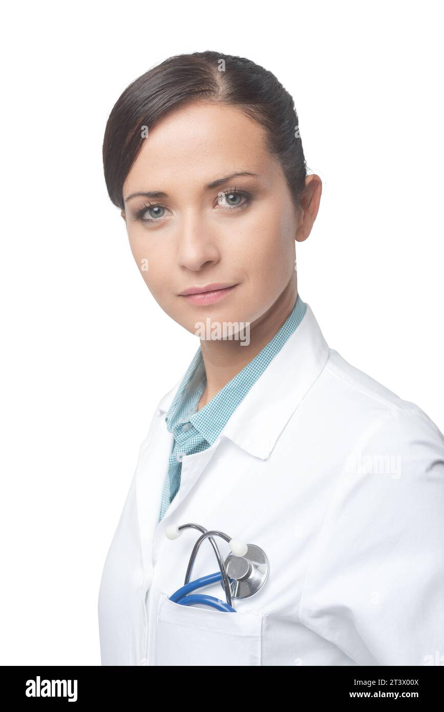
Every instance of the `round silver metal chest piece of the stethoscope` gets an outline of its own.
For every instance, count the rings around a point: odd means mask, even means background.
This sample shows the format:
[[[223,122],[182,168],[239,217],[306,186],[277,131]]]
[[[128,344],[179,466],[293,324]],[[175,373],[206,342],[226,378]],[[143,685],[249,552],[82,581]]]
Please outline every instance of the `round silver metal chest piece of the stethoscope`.
[[[268,577],[268,558],[265,552],[254,544],[248,544],[245,555],[229,554],[225,560],[228,582],[233,598],[253,596]],[[223,582],[221,581],[223,588]]]

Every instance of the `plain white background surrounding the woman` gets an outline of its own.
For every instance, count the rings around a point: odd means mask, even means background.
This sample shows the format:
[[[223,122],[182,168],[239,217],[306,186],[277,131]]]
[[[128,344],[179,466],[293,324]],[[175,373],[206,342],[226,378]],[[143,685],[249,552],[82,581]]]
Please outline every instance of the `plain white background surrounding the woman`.
[[[441,7],[2,10],[0,664],[100,664],[100,576],[139,446],[199,346],[144,286],[102,175],[112,105],[165,58],[245,56],[292,94],[324,181],[300,295],[332,348],[444,430]]]

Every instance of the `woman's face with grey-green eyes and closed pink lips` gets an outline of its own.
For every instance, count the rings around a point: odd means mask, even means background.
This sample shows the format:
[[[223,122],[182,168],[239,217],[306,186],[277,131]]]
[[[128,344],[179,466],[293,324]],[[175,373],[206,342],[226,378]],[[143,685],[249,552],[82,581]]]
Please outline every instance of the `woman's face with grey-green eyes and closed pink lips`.
[[[263,128],[241,110],[196,103],[164,117],[149,130],[123,197],[147,287],[192,333],[208,317],[253,324],[295,281],[290,191]],[[231,289],[182,294],[214,284]]]

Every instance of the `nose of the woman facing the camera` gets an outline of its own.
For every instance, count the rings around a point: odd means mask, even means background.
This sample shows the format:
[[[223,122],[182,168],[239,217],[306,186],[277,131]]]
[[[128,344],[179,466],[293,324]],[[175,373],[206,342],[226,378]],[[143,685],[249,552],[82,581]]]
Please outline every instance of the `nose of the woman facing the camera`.
[[[194,210],[187,211],[181,220],[177,245],[179,267],[193,272],[216,264],[221,258],[214,229]]]

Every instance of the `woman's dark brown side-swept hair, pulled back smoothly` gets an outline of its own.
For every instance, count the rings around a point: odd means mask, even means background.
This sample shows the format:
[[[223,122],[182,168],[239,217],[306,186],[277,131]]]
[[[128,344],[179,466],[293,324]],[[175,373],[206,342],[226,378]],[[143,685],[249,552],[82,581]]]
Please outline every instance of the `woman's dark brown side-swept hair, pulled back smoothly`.
[[[103,140],[107,191],[121,210],[123,184],[144,137],[167,112],[199,100],[237,106],[265,129],[270,153],[280,162],[296,209],[307,164],[291,95],[270,71],[243,57],[194,52],[166,59],[134,80],[117,99]]]

